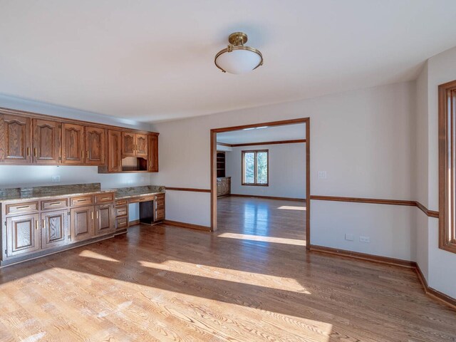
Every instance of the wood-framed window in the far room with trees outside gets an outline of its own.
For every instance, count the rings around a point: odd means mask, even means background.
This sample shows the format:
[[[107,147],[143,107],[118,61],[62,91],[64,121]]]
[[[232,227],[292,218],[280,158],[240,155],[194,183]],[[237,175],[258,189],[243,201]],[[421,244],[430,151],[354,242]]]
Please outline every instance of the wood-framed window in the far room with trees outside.
[[[268,185],[268,150],[242,151],[242,184]]]

